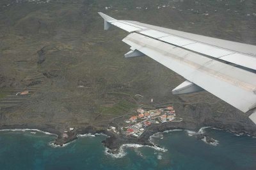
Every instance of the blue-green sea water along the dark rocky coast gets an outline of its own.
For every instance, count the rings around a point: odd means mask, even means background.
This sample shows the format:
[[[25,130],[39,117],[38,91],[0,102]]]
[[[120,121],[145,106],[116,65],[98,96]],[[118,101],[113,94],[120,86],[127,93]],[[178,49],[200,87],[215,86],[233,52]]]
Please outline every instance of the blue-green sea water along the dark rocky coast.
[[[168,151],[127,146],[118,155],[106,153],[101,144],[104,135],[79,137],[54,148],[49,144],[54,135],[0,132],[0,169],[256,169],[255,138],[210,128],[205,131],[219,141],[217,146],[182,130],[152,137]]]

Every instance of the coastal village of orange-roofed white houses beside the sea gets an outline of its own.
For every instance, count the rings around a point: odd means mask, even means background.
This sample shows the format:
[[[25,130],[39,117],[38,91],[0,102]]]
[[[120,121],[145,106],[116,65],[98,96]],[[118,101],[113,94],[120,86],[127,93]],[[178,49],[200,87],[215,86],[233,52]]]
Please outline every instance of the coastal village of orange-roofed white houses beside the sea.
[[[164,107],[161,109],[147,110],[137,109],[136,114],[125,121],[125,127],[121,127],[122,134],[132,137],[140,137],[147,127],[152,124],[166,123],[168,121],[182,121],[182,118],[177,118],[173,106]],[[108,130],[119,134],[116,127],[109,127]]]

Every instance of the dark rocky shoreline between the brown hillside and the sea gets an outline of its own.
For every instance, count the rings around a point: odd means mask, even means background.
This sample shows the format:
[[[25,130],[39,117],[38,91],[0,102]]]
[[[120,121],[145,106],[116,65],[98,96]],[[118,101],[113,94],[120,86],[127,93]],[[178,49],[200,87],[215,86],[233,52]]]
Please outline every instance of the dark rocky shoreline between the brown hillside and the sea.
[[[206,143],[212,144],[215,143],[215,140],[209,137],[207,134],[204,134],[204,132],[200,132],[200,129],[205,126],[198,126],[195,125],[195,123],[186,123],[184,121],[180,122],[169,122],[169,123],[163,123],[160,125],[151,125],[148,127],[148,129],[141,135],[140,138],[136,137],[127,137],[122,134],[115,134],[114,132],[108,131],[107,129],[104,128],[99,128],[99,127],[93,127],[93,126],[88,126],[85,128],[77,128],[71,131],[66,132],[68,134],[68,137],[63,137],[63,134],[56,130],[52,126],[29,126],[29,125],[8,125],[8,126],[1,126],[0,130],[36,130],[36,131],[42,131],[47,134],[54,134],[56,135],[55,141],[52,143],[55,146],[64,146],[65,144],[68,144],[72,141],[75,141],[79,135],[83,134],[104,134],[107,135],[108,137],[102,141],[102,144],[106,148],[108,148],[108,153],[118,153],[118,150],[120,150],[120,147],[124,144],[141,144],[143,146],[152,146],[152,147],[157,147],[161,148],[161,146],[157,146],[156,144],[152,143],[150,141],[150,136],[161,133],[167,130],[191,130],[195,132],[195,137],[196,139],[201,139],[204,140]],[[218,128],[221,130],[225,130],[227,132],[232,132],[234,134],[240,134],[240,135],[250,135],[250,136],[256,136],[255,133],[248,133],[243,130],[234,130],[234,129],[228,129],[228,128],[221,128],[221,127],[212,127],[212,128]],[[199,131],[198,131],[199,130]]]

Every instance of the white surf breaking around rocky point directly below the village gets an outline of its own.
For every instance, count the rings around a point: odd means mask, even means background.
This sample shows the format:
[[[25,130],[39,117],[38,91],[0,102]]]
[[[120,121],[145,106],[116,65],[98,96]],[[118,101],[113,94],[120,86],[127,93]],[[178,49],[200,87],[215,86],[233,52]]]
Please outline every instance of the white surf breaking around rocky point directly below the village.
[[[168,150],[166,150],[164,148],[160,148],[156,145],[148,146],[148,145],[142,145],[142,144],[122,144],[122,146],[120,146],[120,148],[118,150],[118,153],[111,153],[111,150],[109,150],[108,148],[106,148],[104,152],[106,155],[110,155],[113,158],[122,158],[127,154],[125,152],[125,148],[141,148],[141,147],[153,148],[154,150],[163,151],[163,152],[168,151]]]

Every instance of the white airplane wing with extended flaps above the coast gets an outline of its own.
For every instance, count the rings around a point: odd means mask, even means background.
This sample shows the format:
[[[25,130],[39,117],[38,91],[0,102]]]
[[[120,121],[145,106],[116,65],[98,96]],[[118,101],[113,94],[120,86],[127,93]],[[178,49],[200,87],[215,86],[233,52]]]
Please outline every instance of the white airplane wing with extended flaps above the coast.
[[[131,51],[125,58],[146,55],[187,80],[173,94],[205,89],[240,111],[253,111],[250,119],[256,124],[255,45],[99,15],[104,29],[114,25],[129,32],[123,42]]]

